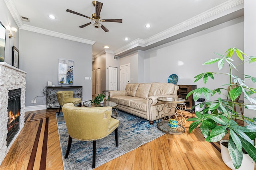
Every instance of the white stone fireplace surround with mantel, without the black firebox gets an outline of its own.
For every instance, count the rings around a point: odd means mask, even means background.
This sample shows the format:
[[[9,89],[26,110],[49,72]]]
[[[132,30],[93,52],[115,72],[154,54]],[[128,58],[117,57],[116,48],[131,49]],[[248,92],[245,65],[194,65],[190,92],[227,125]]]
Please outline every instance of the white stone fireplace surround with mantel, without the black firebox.
[[[20,130],[7,147],[7,123],[8,123],[8,92],[10,90],[21,89],[20,97]],[[26,72],[11,66],[5,62],[0,62],[0,164],[14,143],[18,134],[24,127],[25,121],[25,91],[26,91]]]

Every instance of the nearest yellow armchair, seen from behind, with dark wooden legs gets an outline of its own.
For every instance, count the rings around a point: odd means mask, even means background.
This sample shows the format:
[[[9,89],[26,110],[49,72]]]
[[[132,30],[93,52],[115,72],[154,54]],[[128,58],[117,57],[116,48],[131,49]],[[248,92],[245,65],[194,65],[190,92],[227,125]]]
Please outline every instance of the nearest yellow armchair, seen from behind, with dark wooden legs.
[[[65,158],[68,158],[73,138],[93,141],[92,168],[95,168],[96,140],[115,131],[116,147],[118,147],[119,120],[111,117],[112,107],[75,107],[74,104],[68,103],[64,104],[62,112],[69,135]]]

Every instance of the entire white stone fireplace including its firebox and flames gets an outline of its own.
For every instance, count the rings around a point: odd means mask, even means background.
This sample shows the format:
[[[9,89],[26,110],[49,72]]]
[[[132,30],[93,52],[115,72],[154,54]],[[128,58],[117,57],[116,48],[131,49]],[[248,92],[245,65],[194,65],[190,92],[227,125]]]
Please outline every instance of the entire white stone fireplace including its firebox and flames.
[[[14,143],[21,129],[24,127],[25,121],[25,90],[26,90],[26,72],[11,66],[5,62],[0,62],[0,164],[4,160],[4,157],[8,153],[10,147]],[[17,96],[17,91],[20,91],[20,94]],[[14,92],[14,94],[9,94],[9,92]],[[11,96],[9,96],[11,95]],[[16,98],[16,104],[19,103],[20,106],[12,106],[18,109],[18,113],[8,113],[8,100]],[[20,100],[20,101],[19,101]],[[14,101],[13,101],[14,102]],[[15,115],[16,114],[16,115]],[[13,123],[13,126],[16,126],[16,130],[11,134],[12,139],[7,142],[8,134],[8,122],[10,119],[19,119],[19,123]],[[18,125],[19,124],[19,125]],[[10,129],[10,127],[9,127]]]

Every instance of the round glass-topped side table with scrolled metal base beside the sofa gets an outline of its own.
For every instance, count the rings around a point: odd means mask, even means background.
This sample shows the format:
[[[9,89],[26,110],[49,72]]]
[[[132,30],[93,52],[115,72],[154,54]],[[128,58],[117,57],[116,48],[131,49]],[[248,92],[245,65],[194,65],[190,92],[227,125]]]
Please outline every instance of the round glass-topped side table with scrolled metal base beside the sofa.
[[[186,124],[186,119],[182,115],[182,111],[186,109],[185,99],[182,98],[157,98],[158,106],[156,107],[158,111],[158,116],[156,116],[156,126],[163,132],[180,135],[185,132],[184,125]],[[170,119],[175,119],[177,121],[176,126],[170,126]]]

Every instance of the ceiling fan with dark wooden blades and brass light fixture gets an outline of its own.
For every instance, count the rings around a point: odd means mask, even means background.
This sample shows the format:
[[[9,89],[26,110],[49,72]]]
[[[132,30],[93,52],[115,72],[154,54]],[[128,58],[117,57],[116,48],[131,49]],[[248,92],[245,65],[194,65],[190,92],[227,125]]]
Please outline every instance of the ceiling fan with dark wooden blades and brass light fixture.
[[[76,14],[76,15],[79,15],[79,16],[83,16],[85,18],[89,18],[90,20],[92,20],[91,22],[89,23],[86,23],[84,25],[81,25],[79,26],[80,28],[84,28],[86,27],[87,25],[90,25],[92,24],[93,27],[95,28],[98,28],[98,27],[101,27],[105,32],[108,32],[108,29],[106,27],[104,27],[104,25],[102,25],[102,22],[119,22],[119,23],[122,23],[122,19],[107,19],[107,20],[101,20],[100,19],[100,11],[101,11],[101,8],[103,6],[103,3],[101,2],[98,2],[96,0],[92,1],[92,4],[93,6],[95,6],[95,13],[92,14],[92,18],[88,17],[88,16],[85,16],[83,14],[80,14],[78,12],[74,12],[72,10],[69,10],[67,9],[66,12],[70,12],[72,14]]]

